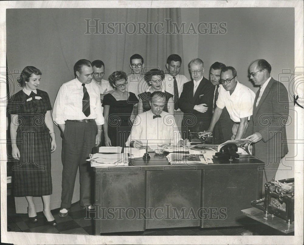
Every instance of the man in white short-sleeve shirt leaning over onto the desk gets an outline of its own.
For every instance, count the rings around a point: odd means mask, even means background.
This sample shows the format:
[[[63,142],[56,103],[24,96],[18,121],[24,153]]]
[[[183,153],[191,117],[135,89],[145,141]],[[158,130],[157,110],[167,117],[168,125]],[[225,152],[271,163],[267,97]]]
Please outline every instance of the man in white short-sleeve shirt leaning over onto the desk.
[[[223,108],[226,107],[231,120],[234,122],[231,139],[241,139],[252,115],[255,94],[250,88],[237,81],[237,71],[232,66],[222,69],[219,82],[221,83],[219,97],[209,128],[200,136],[212,134]]]

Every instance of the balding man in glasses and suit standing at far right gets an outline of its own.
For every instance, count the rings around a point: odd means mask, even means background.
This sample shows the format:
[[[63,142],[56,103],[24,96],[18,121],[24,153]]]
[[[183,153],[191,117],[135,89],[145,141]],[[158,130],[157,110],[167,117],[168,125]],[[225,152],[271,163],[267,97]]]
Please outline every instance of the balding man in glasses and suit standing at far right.
[[[284,144],[288,92],[282,83],[270,76],[271,65],[266,60],[255,60],[249,72],[250,79],[261,87],[255,96],[252,120],[246,134],[254,143],[254,156],[265,162],[264,186],[275,177],[280,160],[288,152],[287,143]]]

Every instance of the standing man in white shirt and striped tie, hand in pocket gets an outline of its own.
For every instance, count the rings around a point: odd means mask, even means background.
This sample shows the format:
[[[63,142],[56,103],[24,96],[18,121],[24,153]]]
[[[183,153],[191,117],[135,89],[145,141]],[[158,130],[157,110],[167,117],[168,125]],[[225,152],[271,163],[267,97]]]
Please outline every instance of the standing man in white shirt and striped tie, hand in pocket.
[[[62,193],[59,216],[67,216],[71,207],[75,178],[79,168],[80,206],[92,209],[89,154],[101,141],[102,108],[97,84],[91,83],[93,68],[88,60],[74,65],[75,79],[58,91],[53,120],[62,133]]]

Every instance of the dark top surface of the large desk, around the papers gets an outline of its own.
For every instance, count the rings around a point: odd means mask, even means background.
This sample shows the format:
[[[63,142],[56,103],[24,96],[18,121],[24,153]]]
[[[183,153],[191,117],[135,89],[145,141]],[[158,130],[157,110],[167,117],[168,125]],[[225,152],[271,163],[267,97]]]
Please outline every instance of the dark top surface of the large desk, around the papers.
[[[229,161],[223,158],[213,158],[212,164],[170,164],[164,155],[158,155],[150,152],[150,159],[143,158],[130,159],[129,166],[115,166],[115,167],[93,167],[94,171],[113,171],[113,170],[196,170],[196,169],[218,169],[218,168],[256,168],[263,166],[264,162],[249,156],[237,160]]]

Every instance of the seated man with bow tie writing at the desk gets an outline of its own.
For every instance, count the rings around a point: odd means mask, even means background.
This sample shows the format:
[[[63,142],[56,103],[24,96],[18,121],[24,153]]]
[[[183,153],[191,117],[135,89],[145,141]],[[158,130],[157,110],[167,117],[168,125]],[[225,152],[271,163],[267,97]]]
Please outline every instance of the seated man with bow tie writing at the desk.
[[[142,141],[147,140],[151,144],[183,145],[174,116],[163,111],[165,103],[166,97],[163,92],[152,93],[151,110],[136,116],[126,146],[140,148],[143,146]]]

